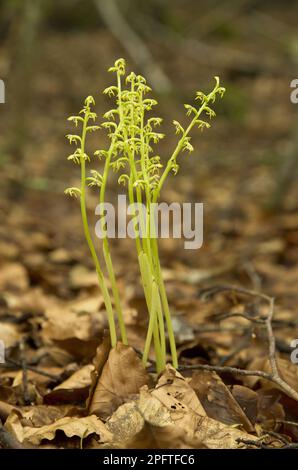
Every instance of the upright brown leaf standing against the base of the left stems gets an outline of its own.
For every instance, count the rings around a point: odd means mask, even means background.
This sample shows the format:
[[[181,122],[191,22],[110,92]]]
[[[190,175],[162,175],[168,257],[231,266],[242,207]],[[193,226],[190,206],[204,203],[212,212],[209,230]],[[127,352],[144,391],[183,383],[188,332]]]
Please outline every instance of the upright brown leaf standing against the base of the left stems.
[[[135,351],[117,343],[109,353],[89,401],[90,414],[107,418],[124,400],[139,393],[147,382],[148,374]]]

